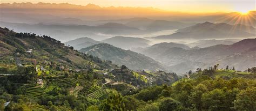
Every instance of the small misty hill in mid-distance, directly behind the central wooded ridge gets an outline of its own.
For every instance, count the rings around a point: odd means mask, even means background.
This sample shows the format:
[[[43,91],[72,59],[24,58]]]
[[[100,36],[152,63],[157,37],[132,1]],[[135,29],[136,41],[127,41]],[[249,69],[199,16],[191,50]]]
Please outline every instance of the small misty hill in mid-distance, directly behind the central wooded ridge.
[[[132,38],[127,36],[114,36],[101,42],[109,43],[118,48],[131,49],[136,47],[149,47],[151,41],[142,38]]]

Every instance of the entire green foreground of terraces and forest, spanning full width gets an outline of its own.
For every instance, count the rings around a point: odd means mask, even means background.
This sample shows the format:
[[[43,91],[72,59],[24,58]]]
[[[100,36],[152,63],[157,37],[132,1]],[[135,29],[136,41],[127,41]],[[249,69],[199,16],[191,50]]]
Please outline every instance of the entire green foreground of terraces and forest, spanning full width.
[[[256,68],[133,71],[0,28],[0,110],[256,110]]]

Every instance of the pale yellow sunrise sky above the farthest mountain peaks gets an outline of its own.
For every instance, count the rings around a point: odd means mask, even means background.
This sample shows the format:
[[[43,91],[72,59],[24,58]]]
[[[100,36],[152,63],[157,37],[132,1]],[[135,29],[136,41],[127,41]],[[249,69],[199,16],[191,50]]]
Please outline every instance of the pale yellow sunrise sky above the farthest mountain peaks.
[[[99,6],[153,7],[180,12],[242,12],[255,10],[255,0],[0,0],[1,3],[70,3]]]

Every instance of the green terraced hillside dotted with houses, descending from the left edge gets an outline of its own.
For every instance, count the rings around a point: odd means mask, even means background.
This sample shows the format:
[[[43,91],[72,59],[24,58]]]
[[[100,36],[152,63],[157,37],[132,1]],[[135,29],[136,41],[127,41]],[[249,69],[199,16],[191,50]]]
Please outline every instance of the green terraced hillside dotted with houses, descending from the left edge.
[[[178,79],[118,67],[46,35],[0,28],[0,110],[111,110],[113,97],[123,102],[140,87]]]

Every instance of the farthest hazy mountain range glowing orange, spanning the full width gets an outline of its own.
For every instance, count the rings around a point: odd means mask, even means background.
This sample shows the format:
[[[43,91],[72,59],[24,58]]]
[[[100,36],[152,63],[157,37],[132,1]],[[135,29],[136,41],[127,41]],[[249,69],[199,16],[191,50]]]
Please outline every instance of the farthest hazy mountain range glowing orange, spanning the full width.
[[[0,8],[2,10],[1,14],[3,15],[1,20],[12,23],[97,25],[114,22],[125,24],[129,21],[136,21],[136,19],[128,20],[127,18],[150,18],[155,20],[180,21],[183,23],[210,21],[213,23],[256,25],[255,11],[250,11],[247,14],[248,16],[243,16],[239,12],[185,13],[156,8],[101,7],[95,4],[82,6],[68,3],[51,4],[42,2],[35,4],[29,2],[2,3],[0,4]],[[250,21],[242,19],[249,19]]]

